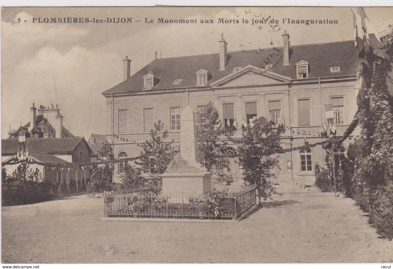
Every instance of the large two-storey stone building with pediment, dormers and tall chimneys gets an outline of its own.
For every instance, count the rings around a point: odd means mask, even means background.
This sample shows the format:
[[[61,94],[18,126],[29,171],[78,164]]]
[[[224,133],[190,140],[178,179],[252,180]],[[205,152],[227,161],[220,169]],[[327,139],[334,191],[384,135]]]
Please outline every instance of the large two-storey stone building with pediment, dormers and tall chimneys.
[[[223,36],[219,53],[158,59],[130,76],[130,60],[124,63],[124,81],[103,92],[107,105],[107,140],[116,158],[140,154],[136,142],[149,139],[154,122],[161,120],[168,141],[180,139],[182,109],[189,103],[197,112],[209,101],[217,107],[231,135],[242,136],[242,123],[264,116],[285,125],[280,146],[290,149],[324,141],[325,104],[333,105],[337,135],[343,134],[356,112],[358,57],[353,41],[291,45],[283,35],[283,47],[227,51]],[[225,140],[225,138],[222,138]],[[348,141],[349,140],[349,141]],[[349,144],[350,136],[344,143]],[[230,142],[224,154],[236,153]],[[275,156],[272,180],[313,183],[314,166],[323,165],[321,146]],[[119,182],[123,165],[116,167]],[[242,183],[241,167],[231,159],[234,184]]]

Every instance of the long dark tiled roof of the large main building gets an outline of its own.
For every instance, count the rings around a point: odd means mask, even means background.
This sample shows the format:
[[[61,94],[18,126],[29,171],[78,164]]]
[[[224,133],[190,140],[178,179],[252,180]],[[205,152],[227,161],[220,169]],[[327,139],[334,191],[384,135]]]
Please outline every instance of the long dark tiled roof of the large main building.
[[[358,58],[353,41],[290,46],[292,54],[289,65],[283,65],[283,48],[257,49],[228,52],[225,71],[219,71],[219,53],[174,58],[156,59],[143,67],[129,79],[103,93],[141,91],[143,76],[150,73],[161,78],[153,89],[176,87],[194,87],[196,72],[206,69],[212,77],[212,83],[233,72],[235,67],[253,65],[265,68],[272,64],[269,71],[296,79],[295,64],[301,60],[310,64],[309,78],[356,75]],[[330,67],[339,66],[340,72],[331,73]],[[175,79],[182,79],[181,84],[173,85]],[[209,84],[208,84],[209,85]]]

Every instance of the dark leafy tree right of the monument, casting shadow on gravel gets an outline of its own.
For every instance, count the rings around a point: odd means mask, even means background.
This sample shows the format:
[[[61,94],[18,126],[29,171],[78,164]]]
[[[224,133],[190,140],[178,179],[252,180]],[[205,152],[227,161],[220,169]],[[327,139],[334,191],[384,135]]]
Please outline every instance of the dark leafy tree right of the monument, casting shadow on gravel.
[[[279,149],[281,127],[274,129],[273,122],[269,122],[263,116],[253,121],[253,127],[248,125],[243,137],[229,140],[240,144],[238,146],[239,164],[244,169],[244,181],[255,184],[258,189],[259,200],[261,196],[266,200],[268,193],[274,192],[274,188],[267,181],[270,176],[269,169],[277,165],[277,160],[270,155],[277,153]]]

